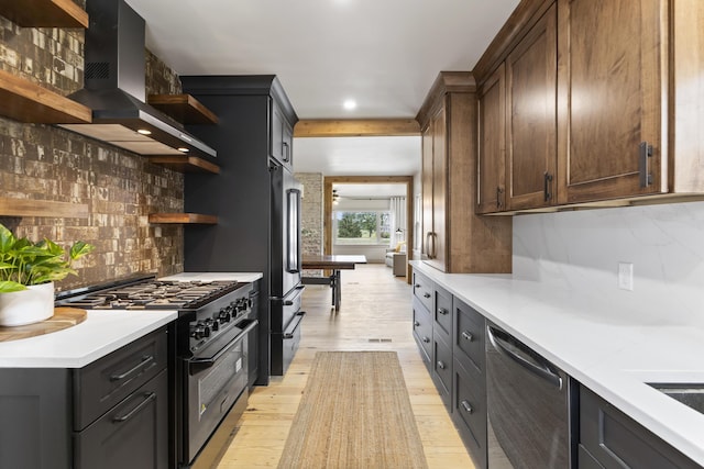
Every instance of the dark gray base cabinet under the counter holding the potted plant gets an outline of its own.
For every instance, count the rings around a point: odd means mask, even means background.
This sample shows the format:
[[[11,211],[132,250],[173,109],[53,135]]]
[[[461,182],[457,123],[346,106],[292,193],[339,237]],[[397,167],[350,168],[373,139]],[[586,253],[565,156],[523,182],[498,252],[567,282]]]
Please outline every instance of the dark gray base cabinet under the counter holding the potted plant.
[[[85,368],[0,369],[0,467],[169,467],[168,344],[162,327]]]

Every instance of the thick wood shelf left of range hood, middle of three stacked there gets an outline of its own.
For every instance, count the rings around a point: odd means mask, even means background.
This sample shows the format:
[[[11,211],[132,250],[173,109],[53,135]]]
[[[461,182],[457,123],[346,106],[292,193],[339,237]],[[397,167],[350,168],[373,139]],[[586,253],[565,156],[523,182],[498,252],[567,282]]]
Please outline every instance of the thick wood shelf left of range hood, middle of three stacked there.
[[[89,108],[4,70],[0,70],[0,114],[20,122],[85,124],[92,119]]]

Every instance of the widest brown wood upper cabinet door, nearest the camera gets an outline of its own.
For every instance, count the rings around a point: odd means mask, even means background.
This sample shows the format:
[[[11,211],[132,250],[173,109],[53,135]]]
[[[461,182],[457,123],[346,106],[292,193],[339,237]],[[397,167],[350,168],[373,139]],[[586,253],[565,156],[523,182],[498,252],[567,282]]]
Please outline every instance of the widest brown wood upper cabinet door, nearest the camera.
[[[560,203],[667,190],[660,101],[664,3],[559,0]]]

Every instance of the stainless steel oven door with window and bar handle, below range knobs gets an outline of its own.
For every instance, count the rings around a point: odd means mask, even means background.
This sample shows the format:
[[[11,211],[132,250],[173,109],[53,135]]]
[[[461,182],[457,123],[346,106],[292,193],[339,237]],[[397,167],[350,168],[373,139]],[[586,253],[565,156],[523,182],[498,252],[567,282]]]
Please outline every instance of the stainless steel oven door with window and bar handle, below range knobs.
[[[198,456],[235,401],[246,401],[248,336],[256,325],[256,320],[243,320],[193,357],[179,359],[185,381],[185,461],[190,462]]]

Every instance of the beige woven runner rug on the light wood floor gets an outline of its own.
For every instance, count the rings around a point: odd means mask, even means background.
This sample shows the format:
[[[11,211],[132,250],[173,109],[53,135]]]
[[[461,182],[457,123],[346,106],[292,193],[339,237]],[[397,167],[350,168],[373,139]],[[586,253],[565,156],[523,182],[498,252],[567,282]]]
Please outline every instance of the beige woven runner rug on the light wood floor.
[[[427,468],[395,351],[318,351],[279,469]]]

